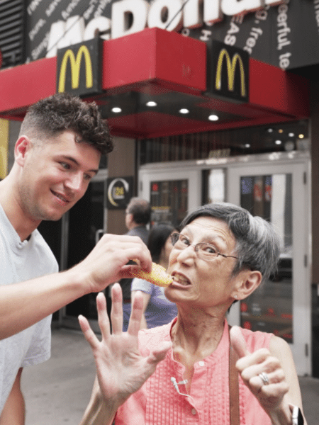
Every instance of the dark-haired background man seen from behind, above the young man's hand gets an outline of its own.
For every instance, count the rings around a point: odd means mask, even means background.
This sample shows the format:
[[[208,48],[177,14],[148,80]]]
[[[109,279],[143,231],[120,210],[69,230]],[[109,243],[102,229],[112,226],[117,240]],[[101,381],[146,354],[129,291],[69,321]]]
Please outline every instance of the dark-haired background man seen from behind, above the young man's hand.
[[[142,242],[147,244],[149,230],[147,225],[150,222],[151,207],[147,200],[142,198],[131,198],[125,210],[125,226],[128,229],[128,236],[138,236]],[[133,261],[130,261],[133,264]],[[120,280],[123,293],[123,330],[128,329],[130,319],[130,285],[132,278]]]

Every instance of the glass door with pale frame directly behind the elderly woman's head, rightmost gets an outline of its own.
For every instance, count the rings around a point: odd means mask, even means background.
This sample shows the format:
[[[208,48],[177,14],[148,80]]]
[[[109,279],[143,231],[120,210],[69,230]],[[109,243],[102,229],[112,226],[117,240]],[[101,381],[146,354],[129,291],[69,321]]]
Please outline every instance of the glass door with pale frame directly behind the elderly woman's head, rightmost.
[[[310,374],[310,276],[307,163],[234,164],[228,200],[272,222],[281,239],[279,270],[230,310],[231,324],[272,332],[293,351],[298,374]],[[308,284],[307,284],[308,283]]]

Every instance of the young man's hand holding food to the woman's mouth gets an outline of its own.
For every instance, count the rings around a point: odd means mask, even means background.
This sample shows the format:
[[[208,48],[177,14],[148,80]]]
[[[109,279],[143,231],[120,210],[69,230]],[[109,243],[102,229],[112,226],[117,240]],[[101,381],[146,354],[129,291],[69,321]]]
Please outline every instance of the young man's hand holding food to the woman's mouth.
[[[127,265],[137,259],[140,267]],[[104,234],[91,253],[68,273],[75,273],[85,293],[99,292],[122,278],[132,278],[130,271],[152,270],[150,251],[140,237]]]

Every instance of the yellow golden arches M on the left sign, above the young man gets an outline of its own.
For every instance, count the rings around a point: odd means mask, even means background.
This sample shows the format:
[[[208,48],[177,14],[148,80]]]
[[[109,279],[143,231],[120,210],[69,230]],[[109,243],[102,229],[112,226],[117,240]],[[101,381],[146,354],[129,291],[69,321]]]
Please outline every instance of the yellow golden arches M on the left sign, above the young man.
[[[60,78],[58,85],[58,93],[63,93],[65,91],[65,78],[67,74],[67,62],[69,61],[71,67],[71,81],[72,89],[79,88],[79,74],[81,68],[82,55],[84,55],[85,62],[85,72],[86,72],[86,89],[89,89],[93,86],[93,75],[92,75],[92,62],[89,49],[82,45],[77,51],[77,57],[75,57],[74,52],[71,49],[68,49],[63,56],[61,67],[60,67]]]

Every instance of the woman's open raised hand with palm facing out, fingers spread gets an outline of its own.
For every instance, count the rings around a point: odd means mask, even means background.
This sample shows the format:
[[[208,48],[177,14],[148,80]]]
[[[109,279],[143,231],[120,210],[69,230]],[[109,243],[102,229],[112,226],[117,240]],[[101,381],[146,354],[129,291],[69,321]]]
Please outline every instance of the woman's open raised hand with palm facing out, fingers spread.
[[[122,331],[122,292],[118,283],[112,288],[112,334],[103,293],[99,293],[96,297],[96,305],[102,334],[101,341],[96,338],[83,316],[79,317],[79,324],[86,341],[91,345],[101,395],[104,404],[110,409],[111,415],[152,375],[157,363],[164,359],[172,344],[165,342],[146,357],[140,354],[138,349],[138,331],[142,317],[142,296],[140,294],[135,295],[128,331],[125,333]]]

